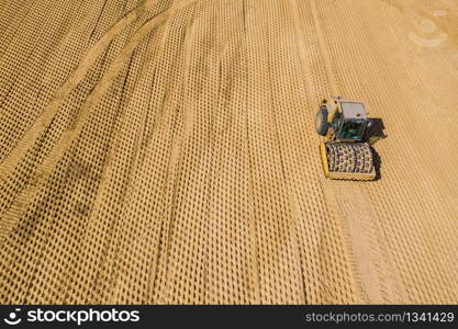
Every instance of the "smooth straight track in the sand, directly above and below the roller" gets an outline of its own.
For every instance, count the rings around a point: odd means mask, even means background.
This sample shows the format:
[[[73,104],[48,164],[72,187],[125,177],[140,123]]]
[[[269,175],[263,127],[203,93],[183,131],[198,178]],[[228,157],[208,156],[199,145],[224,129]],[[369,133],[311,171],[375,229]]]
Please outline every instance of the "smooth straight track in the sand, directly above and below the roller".
[[[329,90],[334,95],[340,95],[337,73],[327,50],[326,33],[323,32],[320,22],[320,10],[316,0],[310,1],[311,14],[315,31],[319,37],[319,48],[322,54],[324,70],[326,71]],[[355,82],[357,83],[357,82]],[[362,298],[370,304],[389,303],[398,300],[395,296],[395,286],[399,282],[394,282],[390,273],[394,268],[387,259],[383,259],[384,246],[379,243],[375,223],[379,222],[373,208],[370,207],[371,200],[364,192],[364,183],[350,182],[332,182],[323,180],[323,189],[328,196],[328,206],[336,207],[336,214],[340,217],[344,231],[347,235],[347,241],[350,242],[348,250],[354,260],[353,268],[357,269],[357,282],[362,288]],[[359,229],[364,225],[370,229]]]

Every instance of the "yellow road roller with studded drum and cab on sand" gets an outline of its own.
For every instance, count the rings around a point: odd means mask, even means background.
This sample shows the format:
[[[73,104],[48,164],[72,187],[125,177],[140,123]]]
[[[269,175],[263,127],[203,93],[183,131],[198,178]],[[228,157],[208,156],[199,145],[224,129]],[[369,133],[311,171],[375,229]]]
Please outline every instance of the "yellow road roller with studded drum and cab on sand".
[[[371,122],[365,104],[327,98],[316,113],[316,133],[323,136],[320,154],[324,175],[334,180],[371,181],[377,177],[367,129]]]

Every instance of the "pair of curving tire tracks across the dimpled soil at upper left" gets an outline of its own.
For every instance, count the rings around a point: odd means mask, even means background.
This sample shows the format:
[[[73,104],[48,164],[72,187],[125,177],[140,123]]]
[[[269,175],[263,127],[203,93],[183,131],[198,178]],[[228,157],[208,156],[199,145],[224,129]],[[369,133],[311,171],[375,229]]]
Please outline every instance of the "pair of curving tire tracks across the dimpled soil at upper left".
[[[98,101],[110,89],[112,82],[116,79],[119,72],[124,68],[125,63],[131,58],[137,45],[154,29],[156,29],[161,23],[166,22],[177,11],[193,3],[194,1],[197,0],[179,0],[177,2],[174,2],[170,9],[148,20],[146,23],[144,23],[142,27],[139,27],[134,33],[127,45],[121,50],[116,59],[110,65],[101,81],[89,94],[79,113],[77,114],[76,118],[74,118],[74,121],[71,122],[70,126],[67,128],[66,132],[63,133],[63,136],[56,143],[51,154],[40,166],[40,169],[36,169],[35,174],[32,177],[32,181],[15,198],[10,209],[8,209],[4,213],[2,217],[2,223],[4,223],[4,226],[2,225],[2,230],[0,230],[0,241],[4,239],[5,235],[11,230],[11,228],[14,227],[15,223],[22,216],[23,212],[26,209],[26,205],[35,195],[37,188],[44,184],[49,179],[65,150],[81,133],[87,120],[89,118],[92,112],[91,110],[96,107]],[[133,14],[133,12],[135,12],[135,14]],[[131,18],[132,20],[136,18],[136,11],[134,10],[133,12],[131,12],[131,14],[129,14],[127,18]],[[115,31],[115,34],[118,34],[122,31],[122,29],[125,25],[127,25],[126,21],[121,20],[121,23],[119,22],[115,24],[116,29],[111,31],[112,33],[114,33],[113,31]],[[108,44],[110,39],[111,36],[103,37],[103,42],[98,43],[99,47],[96,47],[98,52],[102,52],[103,45],[105,45],[105,43]],[[98,54],[98,52],[91,52],[92,55],[89,56],[88,60],[94,61],[97,58],[94,54]],[[74,77],[70,78],[70,80],[64,84],[65,88],[62,88],[59,90],[52,105],[47,109],[45,115],[38,118],[34,127],[30,131],[30,134],[32,136],[26,136],[25,138],[23,138],[21,140],[22,144],[20,143],[20,145],[18,145],[12,155],[5,160],[4,163],[2,163],[2,168],[0,169],[0,180],[8,177],[8,174],[10,174],[14,170],[16,162],[21,160],[22,156],[29,149],[30,145],[32,145],[35,141],[35,139],[38,138],[38,136],[42,133],[42,129],[45,129],[47,125],[53,121],[55,112],[58,110],[62,102],[65,101],[66,97],[68,97],[72,88],[79,83],[78,81],[80,81],[83,78],[83,72],[86,72],[86,70],[88,69],[89,67],[86,63],[83,63],[81,65],[81,68],[77,70]],[[78,83],[75,84],[75,82]]]

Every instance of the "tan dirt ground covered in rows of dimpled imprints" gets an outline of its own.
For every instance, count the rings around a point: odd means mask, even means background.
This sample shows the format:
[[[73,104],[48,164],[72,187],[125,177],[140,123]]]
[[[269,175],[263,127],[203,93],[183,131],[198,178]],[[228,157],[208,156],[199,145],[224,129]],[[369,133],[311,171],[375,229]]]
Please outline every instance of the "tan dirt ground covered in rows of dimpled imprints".
[[[458,303],[458,2],[0,1],[0,303]],[[362,100],[375,182],[324,179]]]

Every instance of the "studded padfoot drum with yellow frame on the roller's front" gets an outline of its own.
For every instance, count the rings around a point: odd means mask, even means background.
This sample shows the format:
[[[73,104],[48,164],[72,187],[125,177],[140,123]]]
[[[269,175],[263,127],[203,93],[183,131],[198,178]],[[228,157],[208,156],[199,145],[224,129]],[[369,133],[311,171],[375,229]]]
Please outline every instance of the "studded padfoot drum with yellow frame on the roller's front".
[[[376,178],[372,151],[367,143],[323,141],[320,148],[327,178],[361,181]]]

